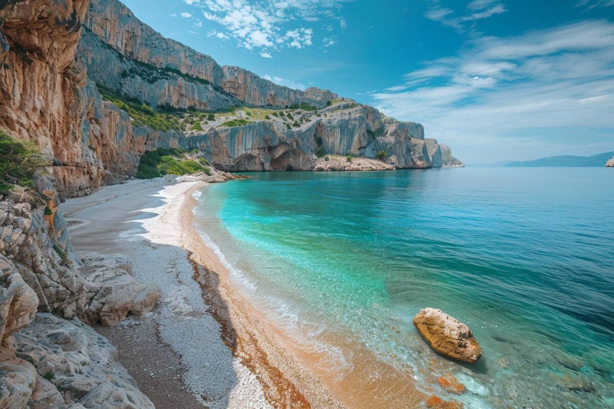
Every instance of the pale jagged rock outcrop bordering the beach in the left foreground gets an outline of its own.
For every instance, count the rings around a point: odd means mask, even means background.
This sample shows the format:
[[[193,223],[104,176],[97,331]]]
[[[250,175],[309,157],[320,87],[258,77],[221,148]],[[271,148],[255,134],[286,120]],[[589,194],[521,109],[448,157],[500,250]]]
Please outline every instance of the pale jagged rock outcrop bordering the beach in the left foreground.
[[[150,312],[160,288],[134,283],[123,256],[76,254],[52,182],[36,185],[0,197],[0,408],[153,408],[85,323]]]

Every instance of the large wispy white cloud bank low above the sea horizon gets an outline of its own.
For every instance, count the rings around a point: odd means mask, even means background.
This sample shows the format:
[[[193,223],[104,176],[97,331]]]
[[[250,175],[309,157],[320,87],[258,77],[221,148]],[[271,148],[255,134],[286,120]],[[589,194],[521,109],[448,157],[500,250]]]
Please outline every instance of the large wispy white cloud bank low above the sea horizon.
[[[471,40],[458,55],[403,79],[405,85],[373,94],[376,107],[423,123],[429,137],[450,142],[468,159],[491,151],[500,155],[493,161],[521,159],[537,146],[560,155],[562,140],[582,145],[591,129],[610,129],[614,148],[614,23],[608,21]]]

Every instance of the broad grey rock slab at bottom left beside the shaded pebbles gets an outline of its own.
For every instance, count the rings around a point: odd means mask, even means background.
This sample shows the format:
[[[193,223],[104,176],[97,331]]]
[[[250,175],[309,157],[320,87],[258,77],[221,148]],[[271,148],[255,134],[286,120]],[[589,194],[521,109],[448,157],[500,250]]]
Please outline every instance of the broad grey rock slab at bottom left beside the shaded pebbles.
[[[79,319],[37,313],[34,322],[13,338],[19,361],[34,370],[35,380],[41,377],[47,380],[29,384],[33,391],[31,408],[42,408],[44,402],[58,402],[57,407],[63,408],[53,393],[58,388],[62,391],[62,402],[72,404],[71,408],[153,408],[119,364],[115,348]],[[34,362],[34,366],[22,359]]]

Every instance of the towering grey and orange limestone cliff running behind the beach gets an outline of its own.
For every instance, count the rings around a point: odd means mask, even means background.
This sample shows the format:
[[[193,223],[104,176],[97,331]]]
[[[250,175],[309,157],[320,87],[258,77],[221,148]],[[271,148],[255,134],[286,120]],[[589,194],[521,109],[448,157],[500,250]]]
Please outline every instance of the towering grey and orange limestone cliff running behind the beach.
[[[61,197],[134,176],[142,153],[157,147],[204,148],[225,170],[314,169],[318,147],[367,158],[385,150],[398,158],[397,167],[445,166],[440,146],[424,139],[420,124],[330,91],[291,90],[219,66],[165,39],[117,0],[54,7],[16,1],[0,8],[0,18],[0,126],[42,147]],[[122,101],[111,103],[101,87]],[[343,103],[330,107],[330,101]],[[135,120],[125,102],[158,112],[144,114],[152,121]],[[293,106],[322,112],[309,111],[297,129],[261,118],[199,133],[185,120],[187,108]]]

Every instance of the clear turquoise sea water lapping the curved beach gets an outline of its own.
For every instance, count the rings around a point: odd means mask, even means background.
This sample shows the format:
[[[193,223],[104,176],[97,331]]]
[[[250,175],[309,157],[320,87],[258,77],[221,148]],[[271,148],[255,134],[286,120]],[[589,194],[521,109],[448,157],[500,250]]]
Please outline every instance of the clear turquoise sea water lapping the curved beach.
[[[206,186],[197,224],[322,367],[357,364],[330,341],[343,334],[468,408],[614,407],[613,169],[250,176]],[[426,346],[411,324],[424,307],[472,328],[478,364]],[[425,368],[470,391],[433,389]]]

